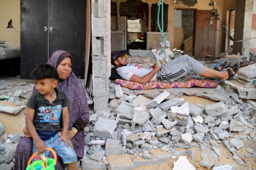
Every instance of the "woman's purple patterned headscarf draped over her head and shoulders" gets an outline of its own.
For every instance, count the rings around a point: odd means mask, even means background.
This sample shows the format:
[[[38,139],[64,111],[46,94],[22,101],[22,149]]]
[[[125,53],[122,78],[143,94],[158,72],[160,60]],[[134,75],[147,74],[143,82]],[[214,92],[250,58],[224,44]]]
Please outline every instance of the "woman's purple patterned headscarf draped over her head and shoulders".
[[[62,53],[66,51],[58,50],[52,53],[51,58],[47,64],[56,67],[58,59]],[[89,123],[89,108],[87,104],[87,97],[82,87],[81,82],[78,80],[76,75],[71,71],[68,78],[59,81],[56,86],[57,89],[64,91],[67,94],[70,105],[68,106],[69,111],[69,129],[71,129],[78,119],[82,119],[86,124]],[[33,89],[33,94],[37,90]],[[77,156],[84,156],[84,130],[81,130],[71,139],[74,150]]]

